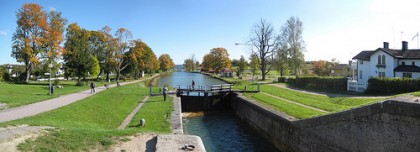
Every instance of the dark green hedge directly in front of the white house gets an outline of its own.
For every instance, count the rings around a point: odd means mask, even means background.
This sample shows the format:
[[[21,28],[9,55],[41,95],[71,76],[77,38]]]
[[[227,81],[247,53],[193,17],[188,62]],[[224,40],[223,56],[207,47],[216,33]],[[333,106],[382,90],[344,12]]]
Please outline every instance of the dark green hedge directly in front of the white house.
[[[370,78],[368,94],[399,94],[406,92],[420,91],[420,79],[401,78]]]

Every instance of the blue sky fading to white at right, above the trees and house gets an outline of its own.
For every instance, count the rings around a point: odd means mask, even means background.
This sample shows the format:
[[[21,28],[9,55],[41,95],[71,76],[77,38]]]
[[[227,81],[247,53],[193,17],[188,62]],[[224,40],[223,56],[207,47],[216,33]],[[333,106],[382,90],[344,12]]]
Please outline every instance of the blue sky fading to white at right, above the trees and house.
[[[303,22],[305,60],[335,58],[348,63],[362,50],[389,42],[390,48],[418,48],[420,1],[416,0],[0,0],[0,65],[10,57],[16,12],[25,3],[57,10],[87,30],[126,28],[156,56],[169,54],[176,64],[195,56],[201,62],[212,48],[228,50],[230,59],[249,58],[250,39],[260,19],[279,33],[290,17]]]

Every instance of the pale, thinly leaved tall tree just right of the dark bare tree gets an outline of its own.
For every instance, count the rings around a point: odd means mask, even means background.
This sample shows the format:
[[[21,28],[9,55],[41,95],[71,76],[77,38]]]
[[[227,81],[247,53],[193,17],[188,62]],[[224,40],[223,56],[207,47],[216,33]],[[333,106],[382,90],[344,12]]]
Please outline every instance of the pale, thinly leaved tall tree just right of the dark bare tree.
[[[299,18],[290,17],[282,27],[282,34],[279,36],[280,41],[285,43],[290,66],[294,73],[298,76],[300,69],[305,66],[303,51],[305,50],[305,41],[302,38],[303,23]]]

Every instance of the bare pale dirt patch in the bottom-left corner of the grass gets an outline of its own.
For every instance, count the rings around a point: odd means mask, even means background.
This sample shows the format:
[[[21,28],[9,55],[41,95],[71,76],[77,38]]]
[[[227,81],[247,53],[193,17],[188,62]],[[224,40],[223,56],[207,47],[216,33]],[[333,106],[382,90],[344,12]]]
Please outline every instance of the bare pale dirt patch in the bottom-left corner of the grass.
[[[45,129],[52,129],[47,126],[9,126],[0,128],[0,151],[17,152],[17,146],[26,139],[36,138],[47,133]]]

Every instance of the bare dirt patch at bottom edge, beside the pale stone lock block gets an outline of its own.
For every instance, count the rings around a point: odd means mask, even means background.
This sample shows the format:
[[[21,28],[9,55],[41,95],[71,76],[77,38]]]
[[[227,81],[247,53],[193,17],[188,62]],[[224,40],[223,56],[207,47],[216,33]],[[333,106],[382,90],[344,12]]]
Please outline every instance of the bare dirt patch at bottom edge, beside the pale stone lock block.
[[[124,141],[119,141],[118,144],[110,148],[110,152],[122,152],[122,151],[156,151],[157,134],[154,133],[140,133],[134,136],[129,136]]]

